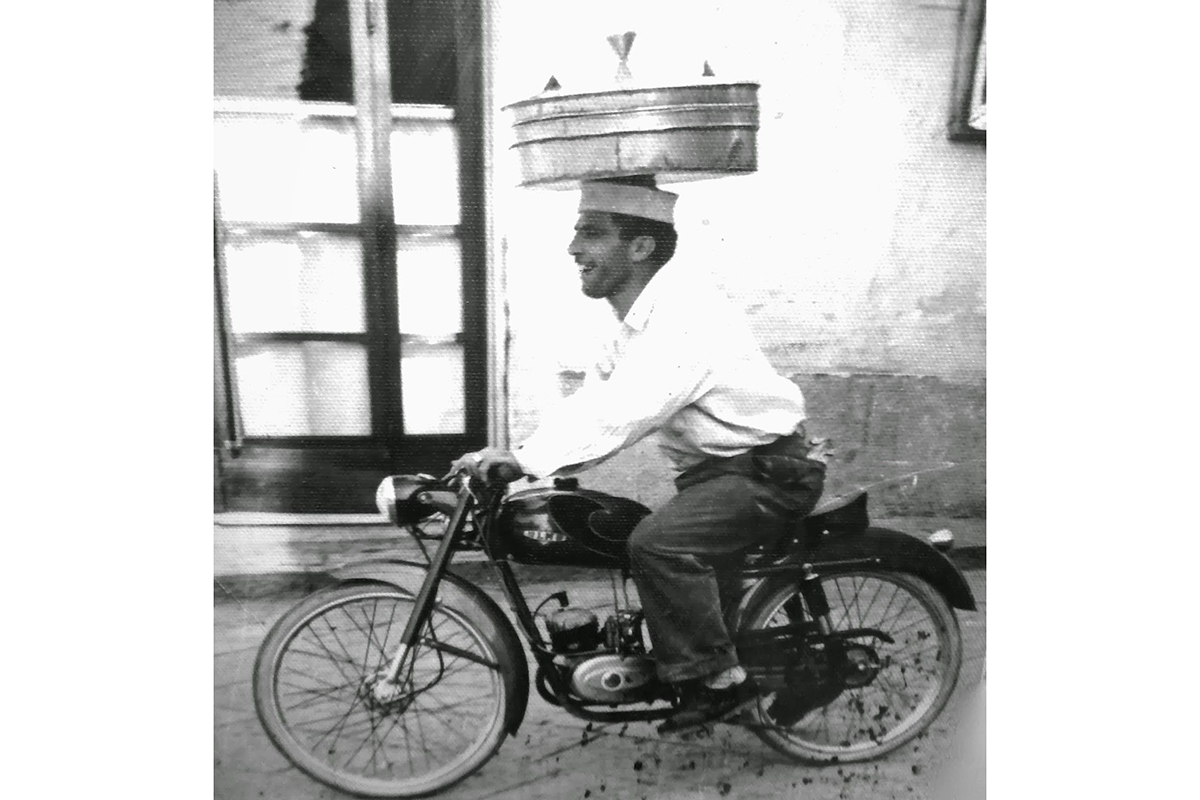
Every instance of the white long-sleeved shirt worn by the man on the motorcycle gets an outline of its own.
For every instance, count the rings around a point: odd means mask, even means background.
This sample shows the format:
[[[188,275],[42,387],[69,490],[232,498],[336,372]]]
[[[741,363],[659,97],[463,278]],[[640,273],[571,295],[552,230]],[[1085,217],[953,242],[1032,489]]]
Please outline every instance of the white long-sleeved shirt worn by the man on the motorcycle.
[[[676,469],[737,456],[804,421],[745,315],[671,261],[642,289],[577,392],[515,455],[536,477],[577,473],[655,431]]]

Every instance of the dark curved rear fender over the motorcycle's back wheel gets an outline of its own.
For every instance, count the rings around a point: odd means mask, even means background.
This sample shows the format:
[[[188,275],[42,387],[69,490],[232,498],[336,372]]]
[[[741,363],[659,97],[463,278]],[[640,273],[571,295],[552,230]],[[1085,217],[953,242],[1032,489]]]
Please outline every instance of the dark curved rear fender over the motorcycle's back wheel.
[[[821,536],[812,545],[808,553],[792,554],[776,561],[772,565],[770,577],[757,579],[750,585],[730,609],[731,630],[740,627],[749,609],[755,608],[780,583],[794,584],[803,575],[805,564],[811,564],[817,575],[836,575],[851,570],[907,572],[929,582],[950,607],[977,610],[974,595],[962,572],[916,536],[887,528],[868,528],[853,534]]]

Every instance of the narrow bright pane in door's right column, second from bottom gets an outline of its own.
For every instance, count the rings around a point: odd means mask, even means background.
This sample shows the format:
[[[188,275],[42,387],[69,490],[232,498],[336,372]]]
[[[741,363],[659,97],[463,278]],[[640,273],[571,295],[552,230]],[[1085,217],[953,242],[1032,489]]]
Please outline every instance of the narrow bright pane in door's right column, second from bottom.
[[[462,331],[462,253],[452,239],[396,242],[400,331],[431,341]]]

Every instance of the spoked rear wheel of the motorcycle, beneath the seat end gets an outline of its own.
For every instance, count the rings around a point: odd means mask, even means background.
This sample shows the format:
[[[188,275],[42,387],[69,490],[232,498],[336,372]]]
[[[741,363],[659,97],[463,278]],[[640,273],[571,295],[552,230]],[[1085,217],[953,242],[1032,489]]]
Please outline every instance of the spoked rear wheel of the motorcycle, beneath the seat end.
[[[805,763],[878,758],[925,730],[949,700],[962,667],[958,618],[937,590],[911,575],[844,572],[822,576],[821,585],[834,631],[874,628],[893,642],[852,639],[852,655],[864,666],[854,682],[863,685],[791,716],[779,693],[766,694],[752,709],[754,729],[779,752]],[[744,627],[796,622],[802,604],[794,585],[780,584],[750,610]],[[803,613],[808,616],[808,608]]]

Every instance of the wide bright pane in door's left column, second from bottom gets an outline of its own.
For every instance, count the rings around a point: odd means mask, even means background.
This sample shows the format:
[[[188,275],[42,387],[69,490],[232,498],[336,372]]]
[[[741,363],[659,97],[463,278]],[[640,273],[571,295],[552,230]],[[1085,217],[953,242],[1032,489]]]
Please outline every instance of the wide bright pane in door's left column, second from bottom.
[[[236,333],[366,330],[356,239],[307,231],[230,236],[226,272]]]

